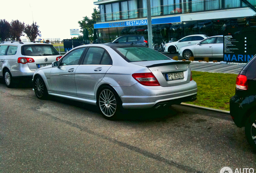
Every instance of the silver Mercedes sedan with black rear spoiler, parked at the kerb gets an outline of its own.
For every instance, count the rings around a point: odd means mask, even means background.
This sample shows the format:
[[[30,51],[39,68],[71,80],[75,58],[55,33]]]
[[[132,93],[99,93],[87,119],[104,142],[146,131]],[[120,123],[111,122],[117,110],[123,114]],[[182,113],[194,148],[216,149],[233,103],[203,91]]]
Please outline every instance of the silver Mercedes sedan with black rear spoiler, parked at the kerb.
[[[120,109],[196,100],[197,85],[189,64],[146,46],[83,45],[36,70],[33,90],[39,99],[52,95],[97,105],[103,117],[113,120]]]

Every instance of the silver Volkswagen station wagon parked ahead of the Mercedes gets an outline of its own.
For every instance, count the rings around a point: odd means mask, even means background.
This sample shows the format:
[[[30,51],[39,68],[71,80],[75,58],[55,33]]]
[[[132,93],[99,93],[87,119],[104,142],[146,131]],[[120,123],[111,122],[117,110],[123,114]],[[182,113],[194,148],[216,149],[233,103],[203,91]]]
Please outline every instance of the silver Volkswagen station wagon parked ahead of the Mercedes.
[[[38,68],[60,59],[53,45],[38,42],[6,41],[0,43],[0,77],[7,87],[19,79],[31,78]]]

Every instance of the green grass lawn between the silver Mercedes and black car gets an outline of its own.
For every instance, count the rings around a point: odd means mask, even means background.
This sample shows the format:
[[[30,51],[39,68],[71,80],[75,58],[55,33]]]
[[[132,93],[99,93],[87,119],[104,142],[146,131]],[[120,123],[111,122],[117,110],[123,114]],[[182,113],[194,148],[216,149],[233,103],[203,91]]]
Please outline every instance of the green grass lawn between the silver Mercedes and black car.
[[[229,111],[229,99],[235,95],[237,74],[192,71],[197,83],[197,100],[188,104]]]

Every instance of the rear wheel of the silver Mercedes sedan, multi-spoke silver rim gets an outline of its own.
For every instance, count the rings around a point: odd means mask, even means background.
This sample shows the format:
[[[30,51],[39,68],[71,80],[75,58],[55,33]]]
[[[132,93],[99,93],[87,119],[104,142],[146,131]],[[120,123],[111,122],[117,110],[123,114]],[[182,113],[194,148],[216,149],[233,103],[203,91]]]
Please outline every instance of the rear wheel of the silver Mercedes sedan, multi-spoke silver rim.
[[[115,120],[120,112],[120,97],[114,89],[105,86],[99,90],[97,105],[105,119]]]

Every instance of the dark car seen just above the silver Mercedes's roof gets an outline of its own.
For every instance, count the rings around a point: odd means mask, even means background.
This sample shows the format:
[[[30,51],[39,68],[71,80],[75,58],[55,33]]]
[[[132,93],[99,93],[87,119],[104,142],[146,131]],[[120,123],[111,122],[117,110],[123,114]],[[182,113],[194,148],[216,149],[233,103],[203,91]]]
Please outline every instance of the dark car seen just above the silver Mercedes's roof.
[[[120,36],[116,38],[116,40],[114,40],[112,43],[139,44],[142,46],[148,46],[148,41],[145,40],[144,36],[140,36],[140,35]]]

